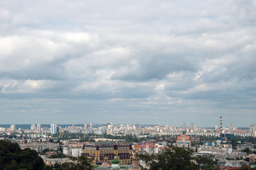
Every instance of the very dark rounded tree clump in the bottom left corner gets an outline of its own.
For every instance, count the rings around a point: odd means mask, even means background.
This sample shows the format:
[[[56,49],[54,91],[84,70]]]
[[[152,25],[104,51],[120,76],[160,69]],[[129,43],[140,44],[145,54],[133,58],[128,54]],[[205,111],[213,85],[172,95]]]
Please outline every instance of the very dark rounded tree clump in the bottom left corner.
[[[16,143],[0,140],[0,170],[41,170],[43,159],[32,149],[21,149]]]

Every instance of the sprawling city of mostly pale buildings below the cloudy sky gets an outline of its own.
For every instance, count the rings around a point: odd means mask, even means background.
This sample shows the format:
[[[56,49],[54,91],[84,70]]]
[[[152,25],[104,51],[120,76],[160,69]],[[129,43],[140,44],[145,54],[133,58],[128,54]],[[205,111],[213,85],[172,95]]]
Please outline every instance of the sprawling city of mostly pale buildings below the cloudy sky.
[[[146,168],[137,154],[160,154],[169,146],[190,149],[195,157],[214,156],[221,169],[254,167],[255,136],[256,125],[236,128],[230,123],[223,127],[222,116],[214,128],[201,128],[194,123],[179,127],[113,123],[0,127],[0,140],[18,143],[21,149],[34,149],[45,165],[55,169],[69,162],[69,157],[87,157],[93,169]]]

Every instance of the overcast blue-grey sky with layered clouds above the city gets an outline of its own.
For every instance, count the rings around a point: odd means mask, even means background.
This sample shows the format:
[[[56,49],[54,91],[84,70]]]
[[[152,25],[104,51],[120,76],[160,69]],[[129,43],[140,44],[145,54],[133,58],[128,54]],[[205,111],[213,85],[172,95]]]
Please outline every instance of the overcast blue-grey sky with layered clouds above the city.
[[[256,0],[0,1],[0,124],[256,124]]]

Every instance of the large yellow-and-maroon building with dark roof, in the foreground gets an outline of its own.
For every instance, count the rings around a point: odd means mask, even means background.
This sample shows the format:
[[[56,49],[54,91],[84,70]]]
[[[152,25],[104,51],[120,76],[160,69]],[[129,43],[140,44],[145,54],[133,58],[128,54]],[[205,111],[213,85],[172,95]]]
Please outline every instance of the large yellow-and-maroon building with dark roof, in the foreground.
[[[96,142],[94,145],[84,145],[82,156],[91,160],[91,164],[108,162],[109,164],[115,158],[119,164],[132,164],[133,149],[131,145],[113,145],[109,143]]]

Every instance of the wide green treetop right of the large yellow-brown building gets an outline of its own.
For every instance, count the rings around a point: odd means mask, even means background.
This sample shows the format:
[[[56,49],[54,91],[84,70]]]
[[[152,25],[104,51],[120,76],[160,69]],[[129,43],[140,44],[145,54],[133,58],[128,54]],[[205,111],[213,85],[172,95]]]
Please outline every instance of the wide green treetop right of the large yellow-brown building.
[[[138,154],[147,168],[161,170],[182,170],[182,169],[218,169],[218,162],[211,156],[192,156],[192,151],[182,147],[171,146],[163,149],[159,154]]]

